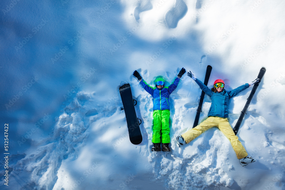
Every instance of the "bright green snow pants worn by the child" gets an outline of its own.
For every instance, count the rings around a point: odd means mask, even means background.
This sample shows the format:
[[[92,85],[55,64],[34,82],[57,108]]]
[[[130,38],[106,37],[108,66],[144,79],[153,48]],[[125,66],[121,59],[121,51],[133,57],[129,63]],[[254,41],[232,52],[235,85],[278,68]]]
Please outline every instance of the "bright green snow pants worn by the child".
[[[170,143],[169,117],[170,111],[168,109],[153,111],[153,143]]]

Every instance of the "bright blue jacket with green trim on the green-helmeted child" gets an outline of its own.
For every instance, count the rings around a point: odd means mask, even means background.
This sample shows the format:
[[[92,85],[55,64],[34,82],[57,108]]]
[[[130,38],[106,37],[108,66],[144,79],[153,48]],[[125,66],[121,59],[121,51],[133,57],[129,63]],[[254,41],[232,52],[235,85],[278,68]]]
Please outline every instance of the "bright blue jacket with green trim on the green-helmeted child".
[[[153,111],[170,109],[169,95],[176,89],[179,81],[180,79],[176,77],[170,86],[164,87],[160,90],[158,88],[149,86],[144,80],[141,80],[140,84],[143,86],[145,91],[150,93],[150,95],[153,97]]]

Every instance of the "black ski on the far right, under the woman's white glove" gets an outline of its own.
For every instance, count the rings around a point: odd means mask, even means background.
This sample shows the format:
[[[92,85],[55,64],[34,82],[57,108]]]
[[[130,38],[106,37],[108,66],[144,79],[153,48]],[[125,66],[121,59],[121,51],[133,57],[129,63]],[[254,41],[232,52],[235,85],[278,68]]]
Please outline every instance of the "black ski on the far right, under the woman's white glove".
[[[251,99],[253,98],[253,95],[265,73],[266,69],[262,67],[258,73],[257,78],[259,78],[259,81],[253,85],[251,93],[247,99],[247,103],[245,104],[245,107],[243,108],[243,111],[241,112],[241,115],[239,116],[239,119],[237,120],[237,123],[235,124],[235,127],[233,128],[233,131],[235,132],[235,135],[237,135],[237,132],[239,130],[239,127],[241,126],[241,122],[243,121],[243,117],[245,116],[245,113],[247,111],[247,108],[249,107],[249,103],[251,102]]]

